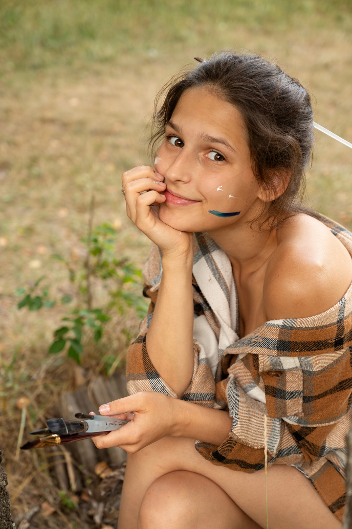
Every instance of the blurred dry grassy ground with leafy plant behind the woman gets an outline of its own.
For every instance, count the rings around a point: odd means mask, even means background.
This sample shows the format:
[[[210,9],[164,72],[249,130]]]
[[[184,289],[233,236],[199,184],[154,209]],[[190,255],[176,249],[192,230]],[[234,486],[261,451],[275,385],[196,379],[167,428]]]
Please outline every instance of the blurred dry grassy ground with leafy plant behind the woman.
[[[63,391],[123,369],[146,310],[148,241],[120,175],[150,163],[157,91],[195,56],[251,50],[297,77],[315,121],[352,142],[351,44],[350,0],[2,0],[0,446],[17,521],[47,503],[31,527],[104,527],[94,513],[80,521],[83,493],[60,493],[43,451],[16,445]],[[307,200],[348,228],[351,162],[316,132]]]

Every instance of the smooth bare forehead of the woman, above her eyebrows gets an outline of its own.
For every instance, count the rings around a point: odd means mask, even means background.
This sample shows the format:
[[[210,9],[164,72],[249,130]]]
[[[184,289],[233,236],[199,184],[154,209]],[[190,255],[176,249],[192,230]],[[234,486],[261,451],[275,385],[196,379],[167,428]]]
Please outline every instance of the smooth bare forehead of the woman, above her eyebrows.
[[[179,98],[171,121],[183,129],[199,133],[221,133],[236,143],[246,143],[246,127],[241,112],[206,87],[190,88]]]

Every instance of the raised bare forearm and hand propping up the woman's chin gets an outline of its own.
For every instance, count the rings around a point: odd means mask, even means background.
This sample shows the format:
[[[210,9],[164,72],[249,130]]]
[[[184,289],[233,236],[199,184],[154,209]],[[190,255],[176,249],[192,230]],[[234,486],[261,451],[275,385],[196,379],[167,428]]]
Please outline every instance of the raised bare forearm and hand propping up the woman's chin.
[[[180,396],[191,381],[194,364],[193,235],[159,220],[156,205],[165,200],[159,192],[165,190],[162,179],[150,167],[141,166],[122,175],[122,187],[128,216],[163,254],[163,276],[146,346],[160,377]]]

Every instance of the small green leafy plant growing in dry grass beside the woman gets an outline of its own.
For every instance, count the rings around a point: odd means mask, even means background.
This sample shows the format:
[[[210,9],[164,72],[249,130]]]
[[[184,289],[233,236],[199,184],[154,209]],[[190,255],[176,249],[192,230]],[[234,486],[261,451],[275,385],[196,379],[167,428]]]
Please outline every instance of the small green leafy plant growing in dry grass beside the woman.
[[[140,269],[127,258],[116,256],[117,231],[112,225],[103,223],[92,227],[93,208],[92,200],[88,235],[81,239],[83,257],[74,262],[58,254],[52,256],[68,270],[74,294],[51,298],[49,287],[42,286],[45,276],[37,279],[31,287],[16,289],[16,295],[21,296],[18,309],[27,307],[29,311],[40,311],[57,305],[67,306],[62,325],[54,331],[49,353],[66,350],[68,357],[79,364],[84,351],[84,336],[89,334],[98,343],[113,311],[123,316],[132,307],[139,317],[143,317],[147,309],[140,296]],[[103,306],[94,304],[94,291],[98,286],[107,294]]]

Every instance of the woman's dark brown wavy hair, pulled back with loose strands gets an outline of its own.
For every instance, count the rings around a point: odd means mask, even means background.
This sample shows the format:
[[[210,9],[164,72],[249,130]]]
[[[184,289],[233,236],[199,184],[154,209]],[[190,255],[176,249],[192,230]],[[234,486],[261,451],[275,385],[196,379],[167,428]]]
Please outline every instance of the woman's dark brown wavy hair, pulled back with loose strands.
[[[312,159],[313,111],[307,90],[297,79],[259,55],[232,50],[214,53],[192,70],[182,70],[159,92],[149,151],[156,152],[182,94],[207,87],[242,114],[255,178],[274,199],[252,221],[279,225],[302,206],[305,171]],[[161,102],[161,103],[160,103]],[[279,189],[284,189],[280,194]]]

